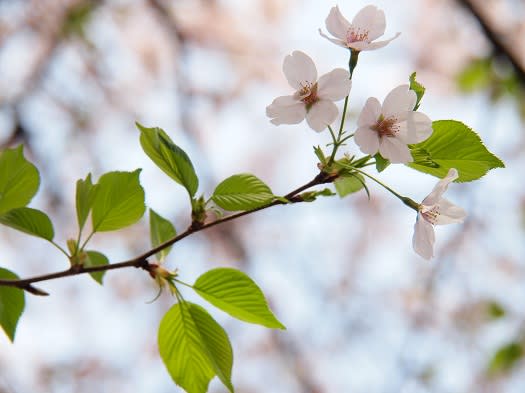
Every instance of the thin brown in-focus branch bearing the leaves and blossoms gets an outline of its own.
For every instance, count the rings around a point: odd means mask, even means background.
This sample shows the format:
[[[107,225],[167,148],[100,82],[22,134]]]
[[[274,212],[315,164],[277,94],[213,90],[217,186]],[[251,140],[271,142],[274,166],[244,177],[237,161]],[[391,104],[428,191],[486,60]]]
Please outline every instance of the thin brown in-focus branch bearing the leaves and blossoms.
[[[288,203],[303,202],[303,199],[301,198],[301,196],[298,195],[299,193],[301,193],[304,190],[307,190],[308,188],[311,188],[313,186],[319,185],[319,184],[331,183],[336,178],[337,178],[337,175],[332,175],[332,174],[328,174],[328,173],[325,173],[325,172],[320,172],[316,177],[314,177],[308,183],[306,183],[306,184],[302,185],[301,187],[298,187],[295,190],[291,191],[290,193],[286,194],[284,196],[284,198],[289,201]],[[223,218],[219,218],[219,219],[217,219],[215,221],[212,221],[212,222],[200,225],[200,226],[196,226],[196,225],[192,224],[183,233],[181,233],[181,234],[175,236],[174,238],[172,238],[172,239],[170,239],[170,240],[160,244],[159,246],[157,246],[155,248],[152,248],[151,250],[143,253],[142,255],[139,255],[139,256],[137,256],[137,257],[135,257],[133,259],[127,260],[127,261],[113,263],[113,264],[109,264],[109,265],[90,266],[90,267],[85,267],[85,266],[81,266],[81,265],[74,265],[74,266],[70,267],[67,270],[62,270],[62,271],[55,272],[55,273],[44,274],[44,275],[41,275],[41,276],[29,277],[29,278],[24,278],[24,279],[19,279],[19,280],[2,279],[2,280],[0,280],[0,286],[15,287],[15,288],[23,289],[23,290],[25,290],[25,291],[27,291],[29,293],[34,294],[34,295],[47,296],[48,295],[47,292],[45,292],[45,291],[43,291],[43,290],[41,290],[39,288],[34,287],[33,284],[36,283],[36,282],[54,280],[54,279],[57,279],[57,278],[76,276],[76,275],[79,275],[79,274],[94,273],[94,272],[101,272],[101,271],[107,271],[107,270],[116,270],[116,269],[123,269],[123,268],[128,268],[128,267],[140,268],[140,269],[143,269],[143,270],[146,270],[146,271],[150,272],[151,268],[152,268],[152,265],[148,262],[148,258],[151,257],[152,255],[155,255],[159,251],[161,251],[161,250],[163,250],[163,249],[165,249],[167,247],[170,247],[171,245],[181,241],[185,237],[188,237],[188,236],[190,236],[190,235],[192,235],[192,234],[194,234],[196,232],[200,232],[200,231],[203,231],[205,229],[214,227],[216,225],[223,224],[225,222],[232,221],[232,220],[235,220],[237,218],[246,216],[248,214],[255,213],[257,211],[264,210],[264,209],[267,209],[267,208],[272,207],[272,206],[284,205],[284,204],[287,204],[287,202],[284,202],[282,200],[275,200],[272,203],[269,203],[268,205],[264,205],[264,206],[258,207],[256,209],[247,210],[247,211],[239,212],[239,213],[236,213],[236,214],[232,214],[230,216],[226,216],[226,217],[223,217]]]

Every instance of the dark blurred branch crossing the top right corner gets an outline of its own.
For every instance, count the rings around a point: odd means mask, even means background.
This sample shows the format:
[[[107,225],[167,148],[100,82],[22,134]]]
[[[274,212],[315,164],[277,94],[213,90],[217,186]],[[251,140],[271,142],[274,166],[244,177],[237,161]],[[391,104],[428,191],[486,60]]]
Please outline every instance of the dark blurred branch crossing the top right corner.
[[[520,81],[521,85],[525,87],[525,69],[521,64],[518,54],[506,45],[505,40],[501,37],[500,34],[496,31],[494,26],[490,23],[489,19],[486,17],[485,13],[479,9],[472,0],[458,0],[458,3],[465,7],[474,18],[478,21],[483,30],[483,33],[487,39],[491,42],[494,47],[496,55],[502,55],[505,57],[509,63],[512,65],[516,77]]]

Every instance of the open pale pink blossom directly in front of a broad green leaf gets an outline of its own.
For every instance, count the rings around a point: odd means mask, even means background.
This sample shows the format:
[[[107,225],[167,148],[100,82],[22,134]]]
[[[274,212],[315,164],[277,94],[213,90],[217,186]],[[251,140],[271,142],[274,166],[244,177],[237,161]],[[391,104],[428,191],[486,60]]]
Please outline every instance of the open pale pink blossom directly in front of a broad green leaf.
[[[377,98],[369,98],[355,132],[355,143],[361,151],[370,155],[379,151],[393,163],[411,162],[407,145],[422,142],[432,134],[432,121],[427,115],[413,111],[416,99],[416,93],[408,85],[388,93],[382,106]]]

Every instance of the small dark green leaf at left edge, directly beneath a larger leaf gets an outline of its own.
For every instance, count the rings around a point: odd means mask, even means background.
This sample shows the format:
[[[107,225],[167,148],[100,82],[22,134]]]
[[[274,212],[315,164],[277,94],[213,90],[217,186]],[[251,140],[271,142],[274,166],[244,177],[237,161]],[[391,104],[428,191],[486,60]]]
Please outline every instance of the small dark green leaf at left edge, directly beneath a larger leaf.
[[[30,207],[19,207],[2,214],[0,223],[49,241],[55,236],[53,224],[46,213]]]

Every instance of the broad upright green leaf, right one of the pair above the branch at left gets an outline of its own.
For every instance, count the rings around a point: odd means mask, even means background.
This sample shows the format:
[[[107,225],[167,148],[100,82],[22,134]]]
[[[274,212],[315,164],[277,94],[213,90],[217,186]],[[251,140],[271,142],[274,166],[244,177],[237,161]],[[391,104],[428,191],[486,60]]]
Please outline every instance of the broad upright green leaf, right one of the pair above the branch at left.
[[[93,232],[114,231],[136,223],[144,215],[144,189],[140,169],[108,172],[100,177],[93,200]]]

